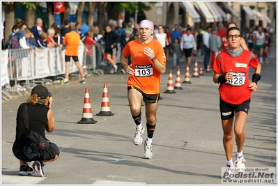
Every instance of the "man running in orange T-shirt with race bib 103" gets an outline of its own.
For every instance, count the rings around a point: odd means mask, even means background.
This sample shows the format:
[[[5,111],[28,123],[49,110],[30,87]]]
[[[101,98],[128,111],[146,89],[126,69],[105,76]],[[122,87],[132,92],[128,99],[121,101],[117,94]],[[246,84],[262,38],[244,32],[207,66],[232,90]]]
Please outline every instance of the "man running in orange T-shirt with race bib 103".
[[[153,157],[152,139],[156,124],[156,111],[160,99],[160,75],[166,70],[166,57],[160,42],[154,40],[153,22],[143,20],[139,24],[140,38],[128,42],[121,54],[121,64],[128,78],[128,102],[132,118],[137,125],[133,143],[142,144],[145,127],[141,123],[141,102],[146,108],[147,139],[144,141],[144,158]],[[128,65],[128,56],[132,62]]]

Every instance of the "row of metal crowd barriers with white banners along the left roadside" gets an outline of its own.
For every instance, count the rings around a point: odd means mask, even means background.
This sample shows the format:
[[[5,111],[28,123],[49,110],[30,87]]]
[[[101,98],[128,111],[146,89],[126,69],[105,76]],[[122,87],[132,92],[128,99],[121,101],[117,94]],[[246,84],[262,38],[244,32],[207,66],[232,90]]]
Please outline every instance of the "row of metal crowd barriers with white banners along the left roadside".
[[[87,67],[91,75],[105,75],[102,65],[102,45],[84,45],[83,42],[79,44],[78,58],[84,68]],[[22,95],[17,87],[5,87],[9,81],[21,81],[23,88],[21,91],[29,94],[25,88],[32,88],[37,83],[44,84],[51,79],[47,77],[59,78],[65,74],[65,50],[60,47],[44,48],[38,52],[31,51],[30,49],[5,49],[2,50],[2,98],[8,100],[13,96],[8,91],[13,91]],[[7,65],[8,64],[8,65]],[[7,67],[7,69],[5,69]],[[70,75],[79,75],[75,62],[70,61]],[[3,75],[5,74],[5,75]],[[5,77],[5,78],[3,78]],[[63,77],[61,77],[63,79]],[[25,83],[22,83],[25,81]],[[51,82],[52,84],[52,82]],[[24,88],[25,87],[25,88]],[[5,91],[8,90],[8,91]],[[5,95],[5,98],[4,96]],[[2,100],[2,101],[3,101]]]

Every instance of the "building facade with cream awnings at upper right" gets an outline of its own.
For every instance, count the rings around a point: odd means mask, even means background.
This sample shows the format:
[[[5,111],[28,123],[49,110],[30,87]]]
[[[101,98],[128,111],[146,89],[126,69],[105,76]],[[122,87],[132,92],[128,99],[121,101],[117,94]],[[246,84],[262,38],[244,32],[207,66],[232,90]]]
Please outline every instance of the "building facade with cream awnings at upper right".
[[[276,28],[275,1],[164,1],[150,6],[152,9],[144,12],[146,18],[169,28],[174,24],[189,25],[196,31],[219,23],[226,26],[229,22],[235,22],[242,32],[268,24]]]

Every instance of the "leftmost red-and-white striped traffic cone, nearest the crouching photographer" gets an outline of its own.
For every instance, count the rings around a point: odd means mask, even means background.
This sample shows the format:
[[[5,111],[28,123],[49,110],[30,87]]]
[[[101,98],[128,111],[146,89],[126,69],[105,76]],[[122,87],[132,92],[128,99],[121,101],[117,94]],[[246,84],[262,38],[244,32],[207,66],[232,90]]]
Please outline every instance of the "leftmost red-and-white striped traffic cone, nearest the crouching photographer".
[[[88,88],[85,88],[85,98],[84,98],[82,119],[77,123],[81,123],[81,124],[97,123],[97,121],[93,119],[93,111],[91,108],[90,96],[88,95]]]

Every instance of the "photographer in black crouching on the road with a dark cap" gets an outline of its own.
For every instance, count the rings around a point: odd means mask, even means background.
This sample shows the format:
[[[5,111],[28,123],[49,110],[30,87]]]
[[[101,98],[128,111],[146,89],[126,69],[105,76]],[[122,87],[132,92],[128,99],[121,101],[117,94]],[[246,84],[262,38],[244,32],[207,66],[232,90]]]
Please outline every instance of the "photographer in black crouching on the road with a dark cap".
[[[26,103],[20,104],[17,110],[17,126],[13,154],[20,160],[20,176],[33,175],[43,177],[45,173],[45,162],[56,160],[60,150],[56,144],[48,141],[45,130],[53,132],[55,122],[52,114],[52,94],[43,85],[33,87],[31,95]],[[30,132],[36,134],[40,139],[46,139],[47,143],[33,142],[35,146],[32,157],[27,155],[26,149],[30,140]],[[45,148],[39,148],[45,146]],[[35,157],[33,157],[35,156]],[[29,166],[33,162],[33,169]]]

